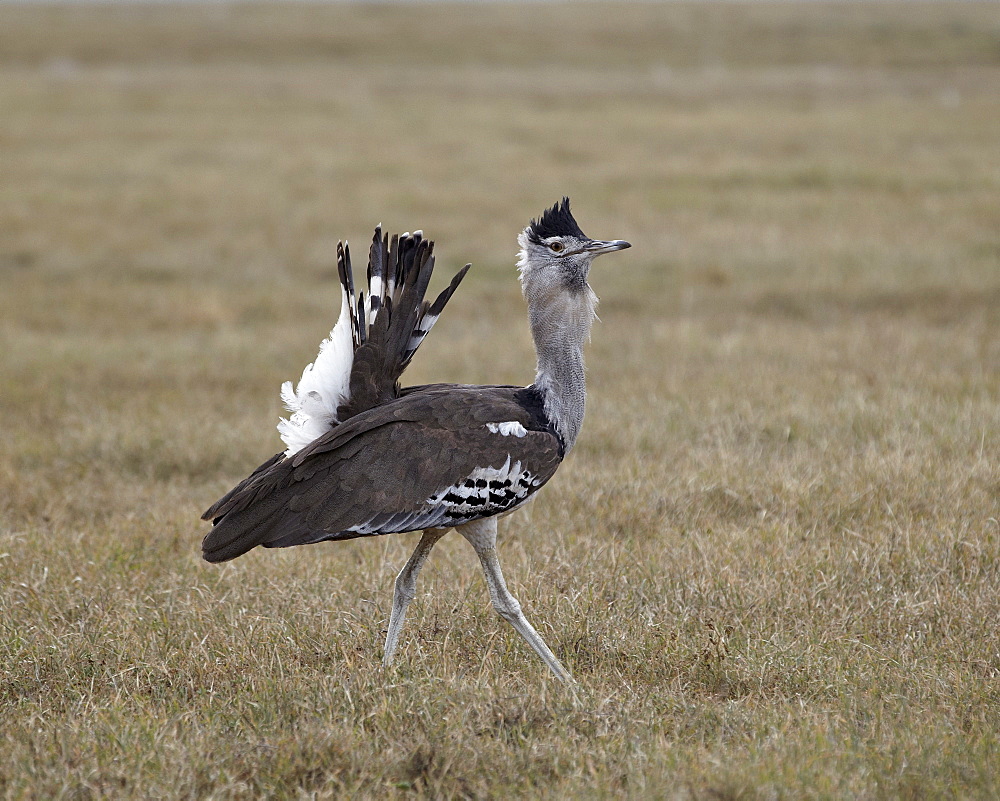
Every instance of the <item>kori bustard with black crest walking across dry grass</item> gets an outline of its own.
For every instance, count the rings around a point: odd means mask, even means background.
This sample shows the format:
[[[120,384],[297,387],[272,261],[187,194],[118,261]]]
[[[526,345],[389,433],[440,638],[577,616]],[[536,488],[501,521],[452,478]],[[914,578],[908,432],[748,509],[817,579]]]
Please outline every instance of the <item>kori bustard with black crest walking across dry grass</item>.
[[[355,293],[350,250],[339,245],[341,312],[293,390],[279,425],[287,446],[213,505],[202,549],[224,562],[257,545],[423,531],[396,578],[383,664],[396,652],[417,574],[454,528],[482,563],[496,611],[565,682],[572,678],[507,590],[497,518],[527,503],[572,450],[583,423],[583,343],[597,297],[591,262],[629,247],[586,236],[563,198],[518,237],[521,288],[538,356],[527,387],[428,384],[399,378],[469,269],[433,303],[424,294],[434,243],[421,232],[375,230],[368,291]]]

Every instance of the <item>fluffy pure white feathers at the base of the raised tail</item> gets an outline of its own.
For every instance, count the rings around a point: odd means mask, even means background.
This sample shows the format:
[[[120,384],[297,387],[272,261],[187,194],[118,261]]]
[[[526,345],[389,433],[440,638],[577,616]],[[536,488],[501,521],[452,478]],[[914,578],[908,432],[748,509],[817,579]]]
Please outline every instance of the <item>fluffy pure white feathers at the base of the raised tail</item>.
[[[322,436],[337,421],[337,408],[350,394],[354,341],[347,292],[341,289],[340,317],[330,336],[319,346],[316,361],[306,365],[298,386],[281,385],[281,400],[292,413],[281,418],[278,432],[285,443],[285,455],[293,456]]]

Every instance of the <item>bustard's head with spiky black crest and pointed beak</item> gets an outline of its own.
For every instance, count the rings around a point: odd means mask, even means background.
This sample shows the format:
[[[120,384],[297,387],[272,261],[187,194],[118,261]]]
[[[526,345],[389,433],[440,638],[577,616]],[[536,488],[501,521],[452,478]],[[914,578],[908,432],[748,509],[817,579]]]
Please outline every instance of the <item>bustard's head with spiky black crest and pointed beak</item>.
[[[517,238],[521,246],[517,266],[525,295],[555,292],[588,292],[590,265],[602,253],[624,250],[631,245],[622,239],[591,239],[569,210],[569,198],[546,209],[532,220]]]

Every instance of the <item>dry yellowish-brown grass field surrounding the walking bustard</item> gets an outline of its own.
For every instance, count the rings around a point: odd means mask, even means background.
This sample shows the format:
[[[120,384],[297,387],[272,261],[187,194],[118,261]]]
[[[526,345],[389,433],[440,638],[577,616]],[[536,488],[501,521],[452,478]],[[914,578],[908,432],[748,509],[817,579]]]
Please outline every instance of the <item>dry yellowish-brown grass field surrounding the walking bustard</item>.
[[[527,383],[515,236],[602,322],[500,553],[200,560],[334,247],[474,262],[408,377]],[[990,3],[0,5],[0,797],[1000,794]]]

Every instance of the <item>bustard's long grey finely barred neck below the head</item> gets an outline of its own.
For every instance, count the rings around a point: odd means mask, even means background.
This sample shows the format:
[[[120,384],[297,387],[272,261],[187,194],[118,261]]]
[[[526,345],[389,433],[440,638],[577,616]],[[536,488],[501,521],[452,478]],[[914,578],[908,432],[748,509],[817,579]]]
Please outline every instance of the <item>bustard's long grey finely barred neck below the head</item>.
[[[528,295],[528,320],[538,356],[535,387],[567,453],[583,426],[587,403],[583,344],[590,338],[596,306],[597,296],[589,286],[548,297]]]

